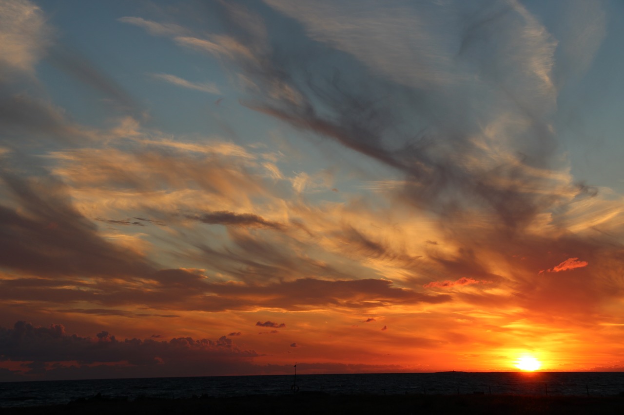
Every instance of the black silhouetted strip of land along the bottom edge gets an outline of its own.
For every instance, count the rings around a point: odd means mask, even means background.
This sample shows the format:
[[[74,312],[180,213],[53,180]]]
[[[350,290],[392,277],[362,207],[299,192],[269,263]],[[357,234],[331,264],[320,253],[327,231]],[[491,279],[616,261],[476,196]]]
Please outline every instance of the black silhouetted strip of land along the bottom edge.
[[[0,408],[31,414],[622,414],[624,397],[470,395],[254,395],[238,398],[81,399],[65,405]]]

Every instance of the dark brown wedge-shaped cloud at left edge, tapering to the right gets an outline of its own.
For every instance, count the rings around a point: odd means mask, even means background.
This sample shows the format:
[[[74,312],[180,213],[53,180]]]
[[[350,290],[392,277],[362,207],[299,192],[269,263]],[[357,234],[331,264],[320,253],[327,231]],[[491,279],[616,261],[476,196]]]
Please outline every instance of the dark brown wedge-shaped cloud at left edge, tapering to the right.
[[[56,179],[25,180],[2,171],[0,181],[20,207],[0,205],[3,267],[47,276],[83,277],[139,276],[154,270],[145,257],[100,237],[97,227],[71,206],[66,186]]]

